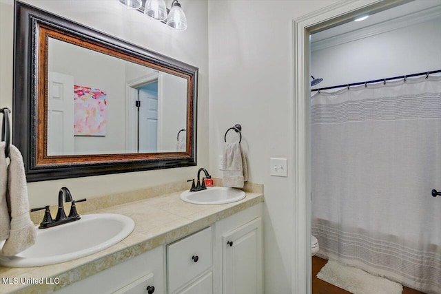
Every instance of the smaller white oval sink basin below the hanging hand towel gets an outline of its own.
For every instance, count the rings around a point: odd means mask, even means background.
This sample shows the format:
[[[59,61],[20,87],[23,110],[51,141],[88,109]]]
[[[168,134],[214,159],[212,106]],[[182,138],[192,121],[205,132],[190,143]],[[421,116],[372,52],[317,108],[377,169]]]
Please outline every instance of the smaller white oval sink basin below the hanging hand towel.
[[[193,204],[225,204],[245,198],[245,192],[229,187],[208,187],[206,190],[181,193],[181,199]]]

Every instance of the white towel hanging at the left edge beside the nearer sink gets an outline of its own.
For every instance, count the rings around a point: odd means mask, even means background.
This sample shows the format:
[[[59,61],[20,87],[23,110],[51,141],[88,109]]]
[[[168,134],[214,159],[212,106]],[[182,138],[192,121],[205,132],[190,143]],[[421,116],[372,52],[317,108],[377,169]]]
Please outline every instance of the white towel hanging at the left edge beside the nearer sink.
[[[0,146],[0,165],[6,165],[4,143]],[[4,161],[3,161],[4,160]],[[3,169],[3,168],[2,168]],[[8,219],[10,219],[9,238],[1,252],[3,255],[15,255],[35,243],[37,231],[30,220],[28,186],[26,185],[23,157],[17,147],[10,145],[10,164],[7,174],[0,174],[1,182],[7,178],[6,200]],[[6,220],[1,217],[2,222]],[[3,229],[3,227],[2,227]]]

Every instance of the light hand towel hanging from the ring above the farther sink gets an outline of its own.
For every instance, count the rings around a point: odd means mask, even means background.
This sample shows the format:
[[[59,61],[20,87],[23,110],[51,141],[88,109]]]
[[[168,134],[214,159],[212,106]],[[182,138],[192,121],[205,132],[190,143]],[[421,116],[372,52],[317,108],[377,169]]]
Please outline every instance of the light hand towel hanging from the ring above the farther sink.
[[[225,143],[223,153],[223,186],[243,188],[248,180],[248,168],[245,154],[240,143]]]

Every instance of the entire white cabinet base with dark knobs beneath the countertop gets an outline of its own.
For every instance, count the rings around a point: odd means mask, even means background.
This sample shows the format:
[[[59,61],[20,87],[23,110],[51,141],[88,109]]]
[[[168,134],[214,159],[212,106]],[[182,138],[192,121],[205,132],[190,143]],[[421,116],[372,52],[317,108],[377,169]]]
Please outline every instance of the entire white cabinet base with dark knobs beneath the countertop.
[[[256,204],[56,293],[263,294],[262,207]]]

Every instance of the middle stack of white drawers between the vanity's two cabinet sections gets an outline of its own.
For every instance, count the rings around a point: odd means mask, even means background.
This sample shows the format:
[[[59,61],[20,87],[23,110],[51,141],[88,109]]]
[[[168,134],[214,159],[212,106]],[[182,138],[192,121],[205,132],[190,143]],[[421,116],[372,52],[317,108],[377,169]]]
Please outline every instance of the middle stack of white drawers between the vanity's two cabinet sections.
[[[168,293],[213,293],[212,249],[212,227],[168,244]]]

